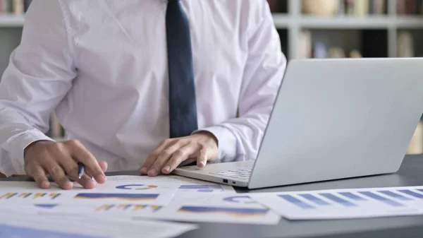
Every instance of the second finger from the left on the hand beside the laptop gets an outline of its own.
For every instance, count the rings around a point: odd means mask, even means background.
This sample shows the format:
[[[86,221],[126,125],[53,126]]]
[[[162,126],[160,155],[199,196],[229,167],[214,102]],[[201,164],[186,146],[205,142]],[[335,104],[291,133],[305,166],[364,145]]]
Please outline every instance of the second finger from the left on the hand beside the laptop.
[[[170,145],[168,148],[164,149],[159,154],[157,160],[154,162],[152,167],[149,168],[148,175],[157,176],[157,174],[159,174],[159,172],[161,172],[161,170],[163,169],[164,165],[166,165],[168,161],[171,160],[171,157],[175,154],[178,157],[185,157],[185,150],[180,150],[180,148],[183,148],[184,146],[185,144],[182,141],[178,141],[173,145]]]

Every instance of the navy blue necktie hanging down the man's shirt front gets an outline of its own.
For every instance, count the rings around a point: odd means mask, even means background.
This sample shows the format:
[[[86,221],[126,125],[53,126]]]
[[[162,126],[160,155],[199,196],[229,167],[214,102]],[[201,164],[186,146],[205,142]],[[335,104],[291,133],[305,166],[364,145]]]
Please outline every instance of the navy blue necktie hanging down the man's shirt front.
[[[194,70],[190,26],[180,1],[168,0],[166,38],[169,71],[170,137],[189,136],[197,130]]]

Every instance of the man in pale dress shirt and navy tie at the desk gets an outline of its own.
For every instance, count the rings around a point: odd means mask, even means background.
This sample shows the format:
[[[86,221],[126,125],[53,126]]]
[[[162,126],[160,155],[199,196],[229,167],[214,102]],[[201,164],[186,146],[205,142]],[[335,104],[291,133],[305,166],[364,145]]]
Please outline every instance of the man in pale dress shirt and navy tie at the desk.
[[[90,189],[106,169],[255,159],[280,44],[266,0],[32,1],[0,83],[0,172]],[[54,110],[67,141],[44,135]]]

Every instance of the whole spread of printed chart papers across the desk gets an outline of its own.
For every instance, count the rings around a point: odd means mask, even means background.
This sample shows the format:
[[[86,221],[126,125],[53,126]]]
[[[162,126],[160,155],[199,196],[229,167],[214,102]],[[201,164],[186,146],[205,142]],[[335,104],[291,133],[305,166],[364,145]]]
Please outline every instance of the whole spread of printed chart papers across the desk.
[[[140,232],[176,237],[196,228],[178,221],[276,225],[281,217],[423,215],[423,186],[237,194],[232,186],[178,176],[108,177],[90,190],[78,184],[62,190],[55,184],[38,189],[33,182],[0,182],[0,212],[8,214],[0,216],[0,230],[10,237],[28,232],[31,237],[137,237]]]

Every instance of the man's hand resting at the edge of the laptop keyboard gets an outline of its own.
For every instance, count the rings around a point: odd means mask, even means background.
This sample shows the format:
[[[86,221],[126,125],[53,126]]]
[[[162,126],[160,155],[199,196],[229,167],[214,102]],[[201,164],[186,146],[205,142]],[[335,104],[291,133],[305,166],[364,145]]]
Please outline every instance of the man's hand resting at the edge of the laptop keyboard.
[[[153,151],[140,169],[142,175],[157,176],[160,172],[170,174],[183,162],[197,160],[198,167],[204,167],[207,161],[214,161],[218,156],[216,137],[208,131],[201,131],[192,136],[166,139]]]

